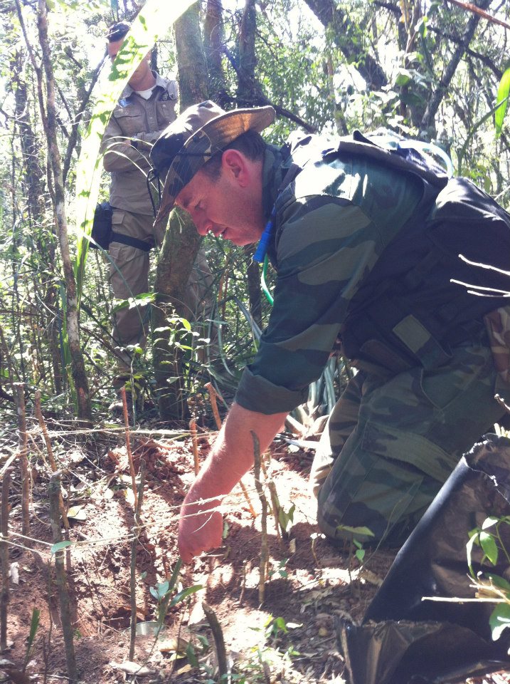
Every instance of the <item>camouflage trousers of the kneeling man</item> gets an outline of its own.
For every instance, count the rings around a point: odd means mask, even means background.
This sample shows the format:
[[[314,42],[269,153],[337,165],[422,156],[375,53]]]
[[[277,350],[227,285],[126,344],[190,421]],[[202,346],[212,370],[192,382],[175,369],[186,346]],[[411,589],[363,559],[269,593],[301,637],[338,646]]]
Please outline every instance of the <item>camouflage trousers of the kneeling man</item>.
[[[359,371],[339,398],[312,467],[319,527],[332,539],[400,544],[459,458],[504,415],[487,337],[450,363],[398,375]],[[340,528],[339,528],[340,526]]]

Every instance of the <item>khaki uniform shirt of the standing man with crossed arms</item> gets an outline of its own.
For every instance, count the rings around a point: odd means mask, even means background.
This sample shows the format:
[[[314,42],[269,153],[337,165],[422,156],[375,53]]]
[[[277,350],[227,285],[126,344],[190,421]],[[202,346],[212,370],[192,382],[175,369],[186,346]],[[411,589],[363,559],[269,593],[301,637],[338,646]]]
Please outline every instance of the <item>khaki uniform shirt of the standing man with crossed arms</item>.
[[[176,81],[159,74],[155,76],[156,87],[149,100],[129,86],[124,88],[101,142],[103,164],[112,175],[110,204],[149,216],[153,215],[147,191],[149,152],[166,126],[176,118],[178,95]]]

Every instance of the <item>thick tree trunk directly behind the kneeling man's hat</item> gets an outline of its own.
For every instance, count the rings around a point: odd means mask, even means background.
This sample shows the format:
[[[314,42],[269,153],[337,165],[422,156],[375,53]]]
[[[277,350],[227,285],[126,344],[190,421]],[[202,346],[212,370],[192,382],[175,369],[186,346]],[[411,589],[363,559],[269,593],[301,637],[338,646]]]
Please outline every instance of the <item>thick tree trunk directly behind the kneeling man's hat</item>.
[[[207,66],[203,51],[198,3],[175,24],[181,109],[207,99]],[[182,302],[201,237],[187,214],[172,212],[156,269],[156,305],[152,307],[153,356],[159,414],[162,420],[188,418],[183,353],[171,342],[172,316],[188,318]],[[174,323],[178,325],[179,323]]]

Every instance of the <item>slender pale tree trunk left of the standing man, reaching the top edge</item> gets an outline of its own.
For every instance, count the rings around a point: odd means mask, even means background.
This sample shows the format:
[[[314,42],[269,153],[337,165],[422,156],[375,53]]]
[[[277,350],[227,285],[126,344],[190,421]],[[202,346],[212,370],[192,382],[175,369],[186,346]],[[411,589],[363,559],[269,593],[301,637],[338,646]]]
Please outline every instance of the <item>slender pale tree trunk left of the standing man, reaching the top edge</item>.
[[[56,135],[56,109],[55,109],[55,80],[53,77],[53,67],[51,65],[51,49],[48,43],[48,16],[46,0],[38,0],[37,26],[39,43],[43,53],[43,66],[46,74],[46,114],[48,127],[46,135],[48,138],[48,157],[51,163],[53,174],[53,185],[55,192],[55,222],[58,232],[58,242],[60,244],[60,254],[65,277],[65,317],[67,323],[68,343],[70,352],[70,371],[76,391],[78,404],[78,419],[86,424],[91,423],[92,413],[90,407],[90,395],[88,390],[87,375],[85,373],[85,363],[80,348],[80,323],[78,318],[78,299],[76,296],[76,282],[73,273],[73,264],[69,254],[68,224],[65,216],[64,185],[62,178],[62,166],[60,162],[60,151],[58,150]]]

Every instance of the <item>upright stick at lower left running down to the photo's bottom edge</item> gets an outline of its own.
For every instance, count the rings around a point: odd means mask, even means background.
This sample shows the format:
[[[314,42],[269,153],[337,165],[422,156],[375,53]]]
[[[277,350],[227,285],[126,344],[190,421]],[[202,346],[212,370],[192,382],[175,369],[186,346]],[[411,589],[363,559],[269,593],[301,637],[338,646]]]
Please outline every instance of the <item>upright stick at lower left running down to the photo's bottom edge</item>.
[[[48,494],[50,498],[50,519],[53,532],[53,543],[58,544],[62,541],[60,532],[60,471],[54,472],[48,484]],[[71,683],[78,679],[76,668],[75,647],[73,643],[73,623],[71,622],[70,599],[68,591],[67,576],[64,566],[63,549],[55,552],[55,577],[57,582],[58,601],[60,603],[60,619],[62,621],[62,631],[65,645],[65,662],[68,667],[68,678]]]

